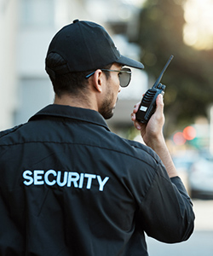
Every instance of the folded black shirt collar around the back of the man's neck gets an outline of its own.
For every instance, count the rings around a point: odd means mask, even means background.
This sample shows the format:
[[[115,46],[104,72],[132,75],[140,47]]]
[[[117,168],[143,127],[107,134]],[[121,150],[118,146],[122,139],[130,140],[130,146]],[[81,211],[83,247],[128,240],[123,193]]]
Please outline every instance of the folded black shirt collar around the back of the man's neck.
[[[29,121],[45,116],[47,119],[48,116],[76,119],[83,122],[93,123],[95,125],[101,125],[110,131],[105,119],[101,116],[101,113],[88,108],[75,108],[71,106],[51,104],[33,115]]]

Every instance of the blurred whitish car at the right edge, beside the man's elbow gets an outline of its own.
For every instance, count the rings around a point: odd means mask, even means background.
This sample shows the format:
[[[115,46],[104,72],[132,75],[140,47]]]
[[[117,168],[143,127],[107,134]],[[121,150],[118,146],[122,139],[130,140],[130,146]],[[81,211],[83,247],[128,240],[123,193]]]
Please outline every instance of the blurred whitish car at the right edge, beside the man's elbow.
[[[194,160],[188,174],[189,194],[192,198],[213,199],[213,157]]]

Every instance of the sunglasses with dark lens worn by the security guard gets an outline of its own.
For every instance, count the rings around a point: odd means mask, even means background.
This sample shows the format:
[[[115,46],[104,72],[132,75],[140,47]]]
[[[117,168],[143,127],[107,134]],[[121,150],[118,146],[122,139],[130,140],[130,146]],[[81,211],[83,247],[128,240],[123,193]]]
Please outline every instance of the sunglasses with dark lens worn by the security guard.
[[[118,72],[121,87],[126,87],[130,84],[132,72],[129,67],[123,67],[121,70],[112,70],[112,69],[101,68],[101,71]],[[89,73],[85,78],[89,79],[94,73],[95,73],[95,71],[93,73]]]

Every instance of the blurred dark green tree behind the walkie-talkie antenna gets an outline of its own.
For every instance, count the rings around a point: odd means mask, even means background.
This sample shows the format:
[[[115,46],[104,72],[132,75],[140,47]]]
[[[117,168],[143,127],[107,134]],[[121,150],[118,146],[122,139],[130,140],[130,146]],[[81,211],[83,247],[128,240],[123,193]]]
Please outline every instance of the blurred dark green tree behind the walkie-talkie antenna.
[[[199,51],[184,44],[182,6],[185,1],[148,0],[141,9],[135,38],[135,43],[141,46],[145,71],[154,79],[158,78],[170,55],[175,55],[162,79],[162,84],[167,85],[165,135],[192,123],[197,116],[207,116],[207,109],[213,102],[213,50]]]

